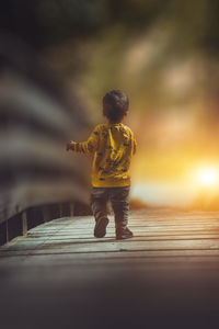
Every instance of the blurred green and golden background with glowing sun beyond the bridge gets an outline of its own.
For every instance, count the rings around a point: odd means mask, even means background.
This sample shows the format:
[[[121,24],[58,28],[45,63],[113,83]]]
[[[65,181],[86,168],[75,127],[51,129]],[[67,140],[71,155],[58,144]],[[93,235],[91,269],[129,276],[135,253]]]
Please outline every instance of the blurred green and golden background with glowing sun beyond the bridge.
[[[87,129],[76,128],[71,137],[78,141],[104,122],[106,91],[128,94],[126,123],[138,141],[132,207],[215,211],[218,12],[216,0],[8,0],[0,11],[1,47],[13,39],[16,56],[25,45],[55,73],[74,109],[72,122],[83,107]]]

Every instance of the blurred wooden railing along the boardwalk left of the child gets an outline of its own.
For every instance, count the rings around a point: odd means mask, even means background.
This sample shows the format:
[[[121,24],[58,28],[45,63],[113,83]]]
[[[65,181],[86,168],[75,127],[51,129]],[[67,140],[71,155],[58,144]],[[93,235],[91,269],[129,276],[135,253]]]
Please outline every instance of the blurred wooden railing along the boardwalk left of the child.
[[[21,43],[0,38],[0,245],[89,212],[84,158],[66,152],[89,122],[74,94]]]

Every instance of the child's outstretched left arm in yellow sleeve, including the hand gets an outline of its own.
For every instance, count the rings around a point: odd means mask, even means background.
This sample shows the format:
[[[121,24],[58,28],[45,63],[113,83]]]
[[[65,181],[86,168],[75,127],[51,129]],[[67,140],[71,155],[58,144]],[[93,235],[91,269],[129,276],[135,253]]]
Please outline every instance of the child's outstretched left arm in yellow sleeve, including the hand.
[[[81,141],[81,143],[77,143],[77,141],[69,141],[66,145],[66,150],[72,150],[76,152],[82,152],[82,154],[87,154],[87,155],[91,155],[93,154],[99,145],[99,126],[96,126],[92,134],[90,135],[89,139],[87,141]]]

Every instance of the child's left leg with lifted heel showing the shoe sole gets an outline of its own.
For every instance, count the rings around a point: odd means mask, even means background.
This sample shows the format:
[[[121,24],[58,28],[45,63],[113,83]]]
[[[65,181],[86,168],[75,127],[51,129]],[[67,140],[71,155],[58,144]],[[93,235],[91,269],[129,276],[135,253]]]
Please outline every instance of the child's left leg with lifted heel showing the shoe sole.
[[[95,218],[94,236],[103,238],[106,234],[107,218],[107,189],[92,188],[91,192],[91,207]]]

